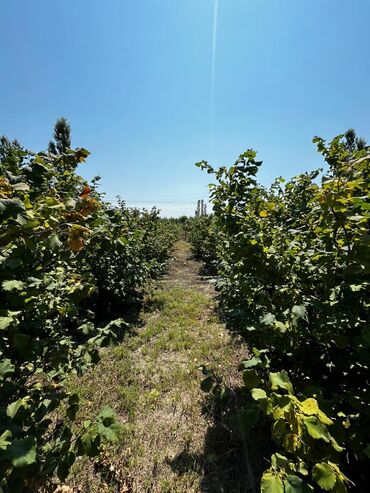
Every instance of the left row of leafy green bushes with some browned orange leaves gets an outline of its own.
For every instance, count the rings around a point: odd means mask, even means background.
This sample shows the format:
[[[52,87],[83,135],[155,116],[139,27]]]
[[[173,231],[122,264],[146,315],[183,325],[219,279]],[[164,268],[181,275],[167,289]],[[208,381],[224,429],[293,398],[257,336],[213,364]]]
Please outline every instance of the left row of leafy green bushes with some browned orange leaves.
[[[74,423],[70,374],[99,359],[158,278],[178,234],[158,211],[112,205],[76,173],[58,121],[48,151],[0,142],[0,491],[38,491],[119,435],[110,408]]]

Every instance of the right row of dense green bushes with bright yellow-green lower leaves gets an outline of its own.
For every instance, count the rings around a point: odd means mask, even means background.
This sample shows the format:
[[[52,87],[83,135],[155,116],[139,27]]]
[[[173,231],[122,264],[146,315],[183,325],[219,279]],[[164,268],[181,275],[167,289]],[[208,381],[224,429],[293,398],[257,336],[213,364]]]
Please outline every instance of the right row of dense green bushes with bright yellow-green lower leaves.
[[[266,189],[252,150],[229,169],[198,163],[218,181],[221,307],[263,348],[244,381],[286,455],[262,491],[346,491],[342,470],[366,483],[370,153],[352,132],[314,142],[328,165],[321,183],[314,171]]]

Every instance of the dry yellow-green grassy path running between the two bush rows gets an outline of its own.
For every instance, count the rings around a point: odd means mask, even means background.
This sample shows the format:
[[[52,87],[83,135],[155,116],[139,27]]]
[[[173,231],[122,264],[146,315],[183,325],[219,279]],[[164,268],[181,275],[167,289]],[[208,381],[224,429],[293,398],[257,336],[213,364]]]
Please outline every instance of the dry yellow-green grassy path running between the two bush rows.
[[[148,299],[143,324],[78,381],[84,416],[111,405],[122,443],[82,460],[69,486],[83,493],[246,491],[240,443],[200,390],[200,364],[238,386],[246,348],[214,313],[213,286],[189,244],[176,244],[166,278]]]

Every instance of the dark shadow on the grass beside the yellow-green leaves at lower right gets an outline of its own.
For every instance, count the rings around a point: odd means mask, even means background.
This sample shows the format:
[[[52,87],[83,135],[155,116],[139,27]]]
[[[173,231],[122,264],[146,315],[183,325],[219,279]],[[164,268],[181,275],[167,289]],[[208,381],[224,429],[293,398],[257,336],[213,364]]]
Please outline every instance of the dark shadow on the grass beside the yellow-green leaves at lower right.
[[[196,471],[204,493],[257,493],[262,472],[273,447],[266,424],[248,434],[243,431],[246,410],[243,389],[226,389],[221,398],[209,394],[203,412],[209,421],[201,454],[186,445],[168,461],[178,475]]]

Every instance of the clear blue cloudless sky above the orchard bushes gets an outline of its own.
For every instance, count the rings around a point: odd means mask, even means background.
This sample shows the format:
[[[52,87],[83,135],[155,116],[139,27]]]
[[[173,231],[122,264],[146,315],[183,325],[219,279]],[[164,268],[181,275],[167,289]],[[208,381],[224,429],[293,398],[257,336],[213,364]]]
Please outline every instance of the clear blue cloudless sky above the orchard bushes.
[[[196,161],[253,147],[268,184],[320,165],[314,135],[370,140],[369,0],[4,0],[0,20],[0,134],[38,151],[65,116],[111,200],[190,214]]]

